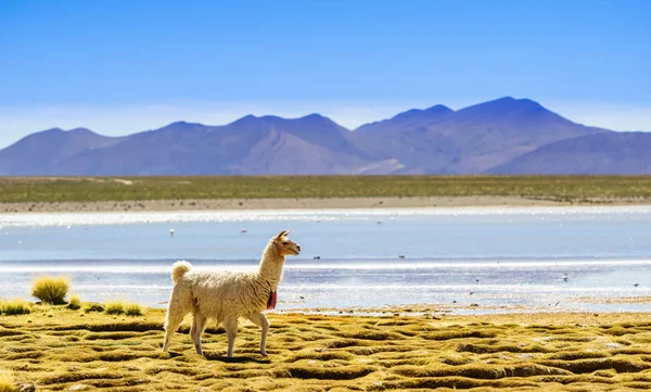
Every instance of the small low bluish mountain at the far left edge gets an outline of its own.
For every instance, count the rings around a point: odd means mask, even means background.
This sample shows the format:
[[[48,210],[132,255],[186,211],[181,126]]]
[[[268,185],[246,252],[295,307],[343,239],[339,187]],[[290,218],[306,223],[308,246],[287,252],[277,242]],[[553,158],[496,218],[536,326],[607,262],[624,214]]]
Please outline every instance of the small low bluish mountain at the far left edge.
[[[52,128],[31,134],[0,150],[0,175],[44,174],[65,159],[113,146],[122,139],[101,136],[86,128]]]

